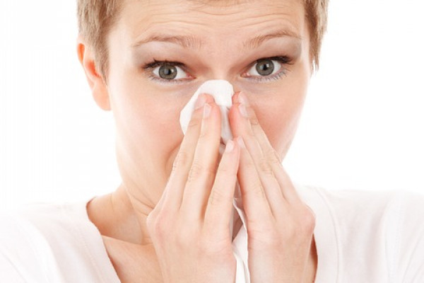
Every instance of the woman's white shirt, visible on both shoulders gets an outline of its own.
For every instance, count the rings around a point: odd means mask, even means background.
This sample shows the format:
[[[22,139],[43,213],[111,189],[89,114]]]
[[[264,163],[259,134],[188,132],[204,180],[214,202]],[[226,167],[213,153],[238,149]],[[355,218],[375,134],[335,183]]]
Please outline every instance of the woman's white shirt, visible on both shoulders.
[[[424,195],[296,188],[316,214],[317,283],[424,282]],[[0,219],[1,282],[119,282],[86,202]]]

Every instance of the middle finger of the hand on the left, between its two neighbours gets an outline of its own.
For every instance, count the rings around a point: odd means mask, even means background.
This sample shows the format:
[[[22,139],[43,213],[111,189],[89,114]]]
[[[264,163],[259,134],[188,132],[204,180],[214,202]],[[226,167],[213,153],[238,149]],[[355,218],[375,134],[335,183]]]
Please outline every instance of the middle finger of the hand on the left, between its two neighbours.
[[[203,219],[211,192],[220,144],[220,109],[216,103],[206,103],[201,131],[187,184],[182,198],[181,211],[187,219]]]

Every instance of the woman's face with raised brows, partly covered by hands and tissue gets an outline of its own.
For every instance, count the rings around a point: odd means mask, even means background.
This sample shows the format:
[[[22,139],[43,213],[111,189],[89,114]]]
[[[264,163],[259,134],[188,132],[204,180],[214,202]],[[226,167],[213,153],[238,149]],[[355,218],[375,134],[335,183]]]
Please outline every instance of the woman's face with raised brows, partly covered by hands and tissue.
[[[179,112],[211,79],[245,93],[272,146],[285,156],[311,72],[302,1],[125,2],[109,37],[105,95],[126,187],[144,187],[153,203],[159,200],[183,139]]]

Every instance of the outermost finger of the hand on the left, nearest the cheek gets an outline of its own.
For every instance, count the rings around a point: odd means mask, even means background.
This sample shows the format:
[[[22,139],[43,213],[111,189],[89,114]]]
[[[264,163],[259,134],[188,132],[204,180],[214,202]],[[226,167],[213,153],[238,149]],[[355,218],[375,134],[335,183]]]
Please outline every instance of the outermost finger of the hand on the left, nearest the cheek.
[[[199,102],[199,100],[204,103],[212,103],[213,97],[201,94],[197,102]],[[201,106],[201,104],[202,103],[196,104],[199,108],[195,109],[192,113],[192,118],[189,125],[187,125],[187,132],[182,139],[179,151],[172,165],[170,178],[158,202],[158,204],[164,205],[165,207],[174,209],[179,209],[179,207],[181,207],[184,187],[187,183],[189,170],[192,167],[194,149],[196,149],[200,135],[201,121],[204,112],[204,107]]]

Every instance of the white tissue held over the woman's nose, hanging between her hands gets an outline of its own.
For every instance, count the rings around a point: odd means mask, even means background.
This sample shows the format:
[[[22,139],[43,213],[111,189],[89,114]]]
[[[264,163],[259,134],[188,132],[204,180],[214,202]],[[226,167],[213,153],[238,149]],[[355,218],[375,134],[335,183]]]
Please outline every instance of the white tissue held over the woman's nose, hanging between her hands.
[[[228,122],[228,110],[232,105],[232,95],[234,91],[231,83],[224,80],[213,80],[205,81],[190,98],[187,105],[184,106],[179,116],[179,124],[181,125],[182,132],[187,132],[187,126],[192,117],[194,110],[194,104],[196,103],[197,97],[201,93],[208,93],[213,96],[215,103],[220,106],[221,111],[221,137],[223,138],[224,144],[227,144],[229,139],[232,139],[232,132],[230,129],[230,123]],[[223,154],[224,146],[220,145],[220,154]],[[247,264],[247,229],[245,221],[245,211],[243,209],[242,197],[240,192],[240,185],[237,182],[235,185],[234,200],[232,201],[233,215],[230,221],[230,236],[232,238],[232,231],[234,229],[234,216],[237,214],[242,220],[242,227],[238,231],[234,240],[232,241],[232,251],[235,259],[237,260],[237,270],[235,276],[236,283],[250,283],[249,269]]]

